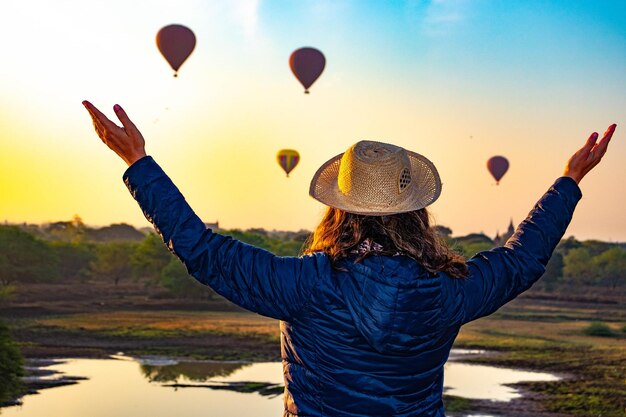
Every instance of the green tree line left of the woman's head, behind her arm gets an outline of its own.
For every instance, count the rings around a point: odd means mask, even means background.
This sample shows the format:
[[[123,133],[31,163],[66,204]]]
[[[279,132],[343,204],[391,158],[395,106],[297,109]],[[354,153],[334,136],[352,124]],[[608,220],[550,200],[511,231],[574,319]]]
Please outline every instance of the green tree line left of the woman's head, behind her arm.
[[[296,255],[308,232],[263,229],[224,234],[277,255]],[[0,225],[0,296],[20,284],[135,280],[156,285],[173,297],[211,297],[208,287],[189,279],[183,264],[154,232],[130,225],[89,228],[79,218],[38,225]]]

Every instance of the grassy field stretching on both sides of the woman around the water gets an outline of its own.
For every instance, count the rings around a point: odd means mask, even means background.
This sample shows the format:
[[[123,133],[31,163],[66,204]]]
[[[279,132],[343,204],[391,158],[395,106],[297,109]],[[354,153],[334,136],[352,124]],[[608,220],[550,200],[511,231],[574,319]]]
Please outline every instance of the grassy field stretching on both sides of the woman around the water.
[[[210,303],[207,304],[210,308]],[[27,356],[163,354],[217,360],[278,360],[275,320],[241,311],[105,310],[16,316],[8,321]],[[611,337],[585,334],[602,321]],[[446,398],[448,410],[507,417],[626,417],[626,308],[617,303],[523,297],[465,326],[457,348],[491,352],[473,362],[557,373],[523,383],[522,400],[506,404]]]

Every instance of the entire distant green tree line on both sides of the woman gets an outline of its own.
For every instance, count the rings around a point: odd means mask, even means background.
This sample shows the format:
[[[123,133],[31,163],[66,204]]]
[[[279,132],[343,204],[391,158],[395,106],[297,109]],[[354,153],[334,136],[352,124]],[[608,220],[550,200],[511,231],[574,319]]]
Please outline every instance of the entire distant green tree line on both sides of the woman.
[[[437,230],[468,258],[494,246],[484,234],[453,238],[449,228],[438,226]],[[264,229],[220,233],[281,256],[298,255],[310,235],[304,230]],[[558,245],[540,283],[548,291],[569,291],[572,286],[581,291],[587,287],[624,289],[625,275],[625,244],[571,237]],[[188,278],[184,266],[153,232],[125,224],[89,228],[78,217],[42,226],[0,226],[0,296],[21,283],[106,280],[117,286],[130,279],[157,285],[175,297],[210,295],[209,289]]]

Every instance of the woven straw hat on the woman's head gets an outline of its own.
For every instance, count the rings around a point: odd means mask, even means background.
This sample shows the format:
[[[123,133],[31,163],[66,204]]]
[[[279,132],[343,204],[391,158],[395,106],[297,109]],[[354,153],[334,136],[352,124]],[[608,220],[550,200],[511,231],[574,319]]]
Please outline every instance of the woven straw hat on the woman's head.
[[[441,194],[441,180],[422,155],[364,140],[322,165],[309,194],[349,213],[383,216],[432,204]]]

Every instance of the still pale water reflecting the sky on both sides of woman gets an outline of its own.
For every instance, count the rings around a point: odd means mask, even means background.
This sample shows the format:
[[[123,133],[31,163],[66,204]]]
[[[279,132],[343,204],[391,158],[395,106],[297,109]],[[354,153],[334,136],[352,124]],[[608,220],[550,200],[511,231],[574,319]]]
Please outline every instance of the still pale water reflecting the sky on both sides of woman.
[[[458,358],[459,354],[456,352],[452,359]],[[22,406],[3,408],[0,411],[2,417],[282,415],[282,395],[280,388],[276,390],[283,382],[280,363],[119,356],[107,360],[72,359],[50,369],[89,379],[27,396]],[[446,365],[445,385],[448,394],[508,401],[519,393],[502,384],[556,379],[545,373],[452,361]]]

